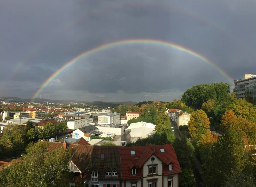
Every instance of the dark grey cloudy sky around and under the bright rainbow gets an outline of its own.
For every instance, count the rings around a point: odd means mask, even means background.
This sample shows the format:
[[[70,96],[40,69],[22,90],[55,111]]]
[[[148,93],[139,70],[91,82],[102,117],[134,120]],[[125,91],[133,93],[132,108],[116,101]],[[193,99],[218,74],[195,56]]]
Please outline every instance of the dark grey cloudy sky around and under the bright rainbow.
[[[255,9],[249,0],[1,0],[0,97],[32,98],[81,53],[131,39],[175,43],[231,79],[256,74]],[[169,46],[116,45],[83,56],[38,97],[170,102],[197,84],[230,83],[220,70]]]

